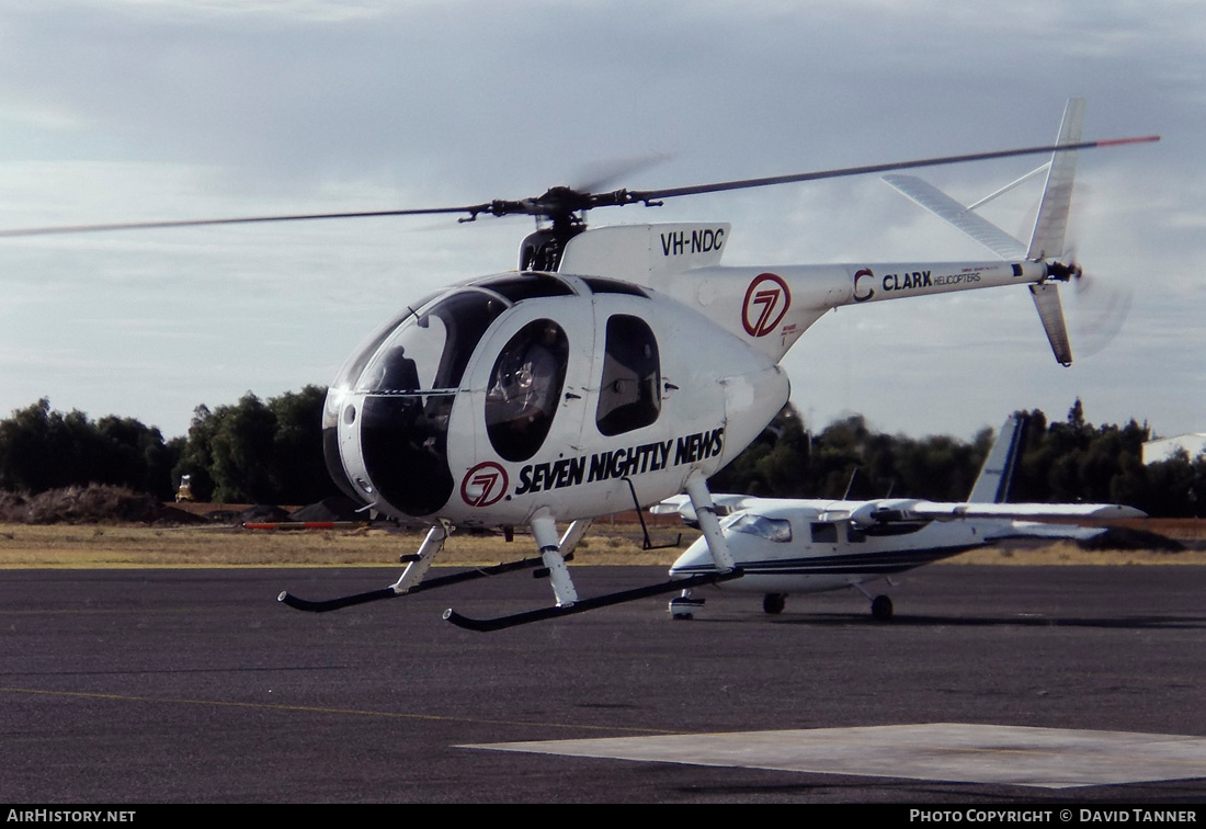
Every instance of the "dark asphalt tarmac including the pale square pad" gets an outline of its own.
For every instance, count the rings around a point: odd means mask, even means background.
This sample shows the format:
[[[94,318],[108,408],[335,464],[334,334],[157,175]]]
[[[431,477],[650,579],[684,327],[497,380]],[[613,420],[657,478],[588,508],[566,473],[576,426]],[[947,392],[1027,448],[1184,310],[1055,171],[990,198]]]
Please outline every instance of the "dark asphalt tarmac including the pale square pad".
[[[1206,567],[925,567],[888,624],[854,591],[769,617],[714,589],[693,621],[441,619],[549,603],[526,573],[276,602],[396,576],[4,571],[0,802],[1206,801]]]

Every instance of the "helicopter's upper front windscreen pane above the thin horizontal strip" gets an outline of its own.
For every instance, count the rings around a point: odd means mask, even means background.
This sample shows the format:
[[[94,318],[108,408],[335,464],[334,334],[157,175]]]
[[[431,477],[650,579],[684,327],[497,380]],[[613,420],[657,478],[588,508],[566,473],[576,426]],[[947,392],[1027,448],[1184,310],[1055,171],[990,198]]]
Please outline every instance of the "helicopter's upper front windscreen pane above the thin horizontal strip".
[[[356,384],[358,391],[452,391],[481,335],[509,303],[466,288],[408,314],[385,339]]]

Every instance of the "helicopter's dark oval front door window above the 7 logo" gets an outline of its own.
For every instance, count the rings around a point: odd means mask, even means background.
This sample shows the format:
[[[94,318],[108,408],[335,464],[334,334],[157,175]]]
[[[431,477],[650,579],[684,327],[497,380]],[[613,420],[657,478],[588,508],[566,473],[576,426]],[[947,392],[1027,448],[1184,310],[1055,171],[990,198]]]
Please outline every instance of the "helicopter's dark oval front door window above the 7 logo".
[[[540,449],[561,402],[569,340],[552,320],[535,320],[508,340],[490,373],[486,433],[508,461]]]

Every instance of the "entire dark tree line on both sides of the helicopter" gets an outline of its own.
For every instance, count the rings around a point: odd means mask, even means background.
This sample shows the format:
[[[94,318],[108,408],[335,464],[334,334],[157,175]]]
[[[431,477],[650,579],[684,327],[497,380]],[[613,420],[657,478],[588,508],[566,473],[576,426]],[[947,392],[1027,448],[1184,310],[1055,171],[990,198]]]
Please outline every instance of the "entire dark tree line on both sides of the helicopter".
[[[49,401],[0,421],[0,490],[37,495],[113,484],[171,500],[182,475],[199,501],[304,504],[338,495],[322,455],[326,389],[306,386],[267,402],[199,405],[185,437],[164,440],[135,419],[92,420]],[[1094,426],[1076,401],[1064,420],[1035,409],[1011,498],[1108,502],[1151,515],[1196,516],[1206,502],[1206,455],[1144,466],[1146,424]],[[921,497],[962,501],[993,443],[876,432],[861,415],[812,431],[790,404],[761,437],[713,477],[715,492],[815,498]]]

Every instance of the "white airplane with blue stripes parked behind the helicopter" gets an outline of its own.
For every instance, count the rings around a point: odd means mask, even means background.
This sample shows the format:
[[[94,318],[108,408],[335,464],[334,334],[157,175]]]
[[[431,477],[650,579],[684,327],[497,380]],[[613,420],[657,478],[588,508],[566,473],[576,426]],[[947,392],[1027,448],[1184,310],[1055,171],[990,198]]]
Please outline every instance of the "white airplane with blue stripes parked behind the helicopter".
[[[872,596],[865,583],[883,578],[890,584],[895,573],[1007,538],[1084,539],[1103,533],[1107,527],[1102,521],[1146,518],[1146,513],[1120,504],[1006,503],[1024,428],[1020,416],[1005,421],[964,503],[715,496],[716,506],[728,510],[720,530],[733,562],[744,573],[716,586],[760,592],[762,609],[772,614],[783,612],[789,595],[854,588],[871,602],[871,615],[886,621],[892,617],[892,600]],[[677,512],[689,524],[696,520],[690,501],[681,496],[667,498],[650,512]],[[715,572],[703,538],[671,567],[672,578]],[[671,615],[690,619],[703,603],[685,589],[671,600]]]

